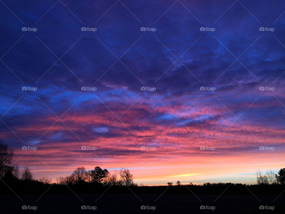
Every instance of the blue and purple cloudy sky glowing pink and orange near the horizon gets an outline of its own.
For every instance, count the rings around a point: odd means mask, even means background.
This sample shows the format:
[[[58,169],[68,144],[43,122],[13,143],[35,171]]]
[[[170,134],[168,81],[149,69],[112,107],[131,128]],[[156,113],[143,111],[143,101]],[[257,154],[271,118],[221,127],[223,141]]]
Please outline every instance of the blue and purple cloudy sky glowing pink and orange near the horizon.
[[[251,184],[257,169],[277,173],[284,8],[2,0],[0,139],[36,179],[80,166],[128,168],[139,185]]]

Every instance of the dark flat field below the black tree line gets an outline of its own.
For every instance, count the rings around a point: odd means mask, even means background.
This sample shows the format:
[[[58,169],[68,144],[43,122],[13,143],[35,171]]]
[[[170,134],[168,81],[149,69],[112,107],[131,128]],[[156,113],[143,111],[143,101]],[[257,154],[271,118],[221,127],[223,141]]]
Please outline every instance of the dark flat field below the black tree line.
[[[0,195],[0,213],[285,213],[285,196],[277,198],[278,195],[221,195],[219,198],[219,195],[197,195],[196,197],[166,193],[162,195],[77,194],[78,197],[75,194],[44,194],[42,197],[40,197],[41,194],[20,194],[18,196]],[[22,206],[25,205],[30,207],[23,210]],[[82,210],[81,207],[84,205],[94,210]],[[204,210],[200,209],[203,205],[208,207]],[[268,206],[267,209],[260,210],[259,207],[262,205]],[[37,209],[31,210],[33,206],[37,206]],[[152,209],[155,206],[155,210],[142,210],[141,206],[149,206],[148,208]],[[270,206],[271,208],[274,206],[274,210],[268,210]]]

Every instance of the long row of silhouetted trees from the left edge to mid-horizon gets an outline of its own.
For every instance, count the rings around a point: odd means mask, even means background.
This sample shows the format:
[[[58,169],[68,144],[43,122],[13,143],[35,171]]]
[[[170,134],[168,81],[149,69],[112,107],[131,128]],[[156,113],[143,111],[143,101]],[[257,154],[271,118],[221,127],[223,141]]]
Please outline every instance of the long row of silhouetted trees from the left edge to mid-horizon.
[[[10,166],[14,150],[9,149],[7,144],[0,140],[0,179],[33,181],[33,174],[29,167],[25,167],[20,173],[18,164]],[[118,176],[117,176],[118,175]],[[71,175],[57,177],[58,185],[74,185],[78,183],[102,183],[103,185],[114,186],[134,186],[134,175],[129,169],[121,168],[110,174],[107,169],[96,166],[93,170],[86,170],[85,167],[77,167]],[[41,177],[37,181],[44,184],[51,184],[52,180],[48,177]]]

